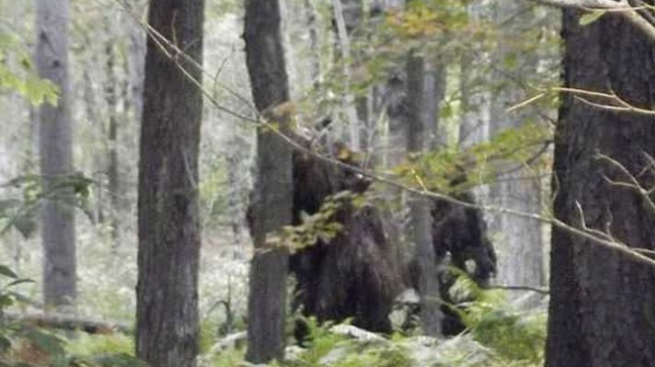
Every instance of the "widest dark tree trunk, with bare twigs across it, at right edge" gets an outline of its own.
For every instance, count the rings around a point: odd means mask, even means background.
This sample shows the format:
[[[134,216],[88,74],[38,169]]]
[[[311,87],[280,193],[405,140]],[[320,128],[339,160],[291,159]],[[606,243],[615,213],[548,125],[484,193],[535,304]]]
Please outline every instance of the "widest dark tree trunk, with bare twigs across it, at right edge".
[[[564,11],[564,85],[616,93],[630,104],[652,108],[655,64],[649,40],[619,15],[603,15],[586,26],[579,25],[580,15]],[[610,156],[643,187],[652,187],[655,174],[646,158],[655,155],[652,116],[603,110],[571,94],[562,98],[553,183],[556,217],[576,227],[583,218],[591,229],[652,251],[655,213],[640,193],[607,180],[627,182],[629,177],[598,155]],[[554,228],[546,365],[655,365],[654,285],[651,266]]]

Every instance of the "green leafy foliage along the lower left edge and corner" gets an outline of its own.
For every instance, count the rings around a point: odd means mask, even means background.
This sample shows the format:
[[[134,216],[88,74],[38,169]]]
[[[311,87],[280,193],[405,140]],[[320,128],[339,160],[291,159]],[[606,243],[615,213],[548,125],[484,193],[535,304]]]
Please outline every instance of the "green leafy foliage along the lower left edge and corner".
[[[23,187],[25,202],[0,202],[0,219],[6,222],[2,233],[13,225],[27,237],[31,232],[27,231],[21,222],[32,220],[29,215],[38,200],[55,196],[57,191],[70,188],[76,196],[86,198],[90,183],[90,180],[80,174],[73,174],[56,183],[52,193],[45,194],[40,192],[40,180],[35,177],[12,180],[11,185]],[[126,336],[89,336],[80,333],[75,343],[69,343],[55,332],[21,322],[20,319],[6,318],[5,313],[10,307],[25,302],[34,303],[15,291],[18,285],[24,283],[34,282],[19,277],[11,268],[0,264],[0,366],[145,366],[133,356],[132,339]]]

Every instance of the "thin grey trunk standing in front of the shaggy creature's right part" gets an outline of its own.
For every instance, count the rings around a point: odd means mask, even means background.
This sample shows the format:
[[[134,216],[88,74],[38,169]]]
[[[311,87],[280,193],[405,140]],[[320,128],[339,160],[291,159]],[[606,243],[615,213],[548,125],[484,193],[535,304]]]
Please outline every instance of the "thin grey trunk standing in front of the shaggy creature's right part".
[[[429,145],[429,134],[436,124],[434,78],[431,65],[421,56],[410,56],[408,74],[408,154],[424,152]],[[409,198],[411,234],[416,246],[416,262],[419,269],[418,293],[421,297],[420,324],[426,335],[441,333],[440,296],[438,284],[438,259],[432,241],[432,200],[423,196]]]

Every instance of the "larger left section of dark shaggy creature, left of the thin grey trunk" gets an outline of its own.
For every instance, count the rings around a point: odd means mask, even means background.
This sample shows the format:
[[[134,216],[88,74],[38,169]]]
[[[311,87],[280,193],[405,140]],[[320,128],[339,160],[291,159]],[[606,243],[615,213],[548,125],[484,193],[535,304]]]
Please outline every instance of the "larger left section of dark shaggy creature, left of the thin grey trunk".
[[[338,156],[346,164],[355,163]],[[317,213],[329,195],[363,193],[370,184],[361,175],[301,152],[294,154],[293,167],[295,224],[300,213]],[[294,307],[318,321],[352,318],[368,331],[392,332],[388,314],[401,289],[401,272],[398,250],[388,243],[378,210],[346,201],[334,220],[343,225],[335,238],[291,256],[290,271],[297,278]]]

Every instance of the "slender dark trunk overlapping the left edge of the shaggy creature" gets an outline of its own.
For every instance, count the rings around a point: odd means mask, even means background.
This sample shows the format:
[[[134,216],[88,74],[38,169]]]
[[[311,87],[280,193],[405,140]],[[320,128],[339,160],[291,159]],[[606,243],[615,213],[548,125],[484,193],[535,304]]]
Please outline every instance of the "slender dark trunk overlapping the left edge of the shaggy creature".
[[[245,26],[253,99],[257,110],[271,112],[289,98],[277,0],[247,0]],[[266,117],[289,133],[285,114]],[[284,357],[288,253],[267,248],[266,238],[267,233],[291,224],[293,201],[291,148],[265,128],[257,130],[257,175],[246,359],[260,363]]]

